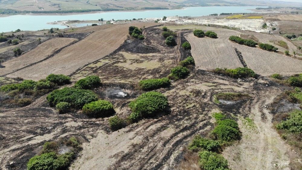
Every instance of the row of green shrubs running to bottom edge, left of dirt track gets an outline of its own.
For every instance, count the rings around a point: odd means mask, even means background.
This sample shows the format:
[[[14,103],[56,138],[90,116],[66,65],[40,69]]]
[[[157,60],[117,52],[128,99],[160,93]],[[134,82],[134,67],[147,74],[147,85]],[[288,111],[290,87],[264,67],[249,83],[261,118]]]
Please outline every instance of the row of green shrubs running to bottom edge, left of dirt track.
[[[234,140],[240,138],[238,123],[233,119],[226,119],[221,113],[214,113],[216,125],[214,130],[210,132],[210,138],[204,138],[200,135],[194,137],[188,145],[188,149],[198,152],[198,164],[201,169],[229,169],[228,161],[218,154],[223,145],[231,144]]]

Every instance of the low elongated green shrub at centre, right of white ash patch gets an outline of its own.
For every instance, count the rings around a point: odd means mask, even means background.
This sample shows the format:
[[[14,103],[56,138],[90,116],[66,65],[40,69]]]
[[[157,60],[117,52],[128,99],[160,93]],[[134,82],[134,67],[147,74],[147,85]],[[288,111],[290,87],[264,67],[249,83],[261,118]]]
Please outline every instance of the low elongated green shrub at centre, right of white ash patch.
[[[139,86],[143,90],[155,90],[159,88],[165,88],[170,86],[170,80],[168,78],[161,78],[161,79],[147,79],[141,80]]]

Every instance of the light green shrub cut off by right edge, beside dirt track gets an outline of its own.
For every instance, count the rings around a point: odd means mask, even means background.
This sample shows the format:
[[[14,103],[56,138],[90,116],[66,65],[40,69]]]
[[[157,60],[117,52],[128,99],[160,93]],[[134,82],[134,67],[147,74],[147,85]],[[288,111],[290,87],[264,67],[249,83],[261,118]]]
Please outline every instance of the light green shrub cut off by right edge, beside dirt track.
[[[277,129],[287,129],[293,133],[302,132],[302,111],[294,110],[289,113],[289,117],[286,121],[281,121],[277,126]]]

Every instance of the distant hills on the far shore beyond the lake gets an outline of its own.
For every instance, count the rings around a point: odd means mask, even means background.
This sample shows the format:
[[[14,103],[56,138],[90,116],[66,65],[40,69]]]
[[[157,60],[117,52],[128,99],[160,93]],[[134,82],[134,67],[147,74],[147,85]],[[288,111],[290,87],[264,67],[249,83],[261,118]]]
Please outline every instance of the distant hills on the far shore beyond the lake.
[[[273,6],[302,7],[301,2],[269,0],[0,0],[0,14],[174,9],[188,6]],[[8,10],[10,9],[10,10]],[[47,11],[47,12],[46,12]]]

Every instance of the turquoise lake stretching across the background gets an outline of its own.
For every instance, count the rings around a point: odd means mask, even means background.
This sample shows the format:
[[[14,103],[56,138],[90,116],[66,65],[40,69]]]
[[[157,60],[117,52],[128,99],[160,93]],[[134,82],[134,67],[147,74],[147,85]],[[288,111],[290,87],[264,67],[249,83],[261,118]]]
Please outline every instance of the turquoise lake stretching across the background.
[[[173,10],[148,10],[148,11],[123,11],[123,12],[100,12],[93,14],[79,15],[12,15],[0,17],[0,32],[14,31],[21,29],[23,31],[36,31],[42,29],[66,28],[64,25],[50,25],[48,22],[66,21],[66,20],[118,20],[133,18],[160,18],[163,16],[204,16],[220,13],[248,13],[248,9],[255,9],[263,6],[211,6],[211,7],[189,7]],[[87,24],[86,24],[87,25]]]

